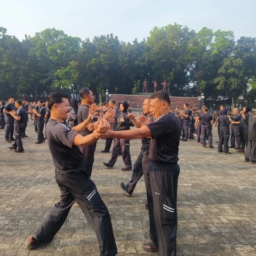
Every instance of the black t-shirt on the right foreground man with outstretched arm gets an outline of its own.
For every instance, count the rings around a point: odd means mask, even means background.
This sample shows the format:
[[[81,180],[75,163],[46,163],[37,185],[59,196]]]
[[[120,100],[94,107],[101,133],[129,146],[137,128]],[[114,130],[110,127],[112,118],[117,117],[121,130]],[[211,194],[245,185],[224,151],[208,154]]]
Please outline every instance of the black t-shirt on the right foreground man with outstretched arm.
[[[180,124],[173,113],[161,116],[147,124],[152,136],[149,158],[158,163],[178,162]]]

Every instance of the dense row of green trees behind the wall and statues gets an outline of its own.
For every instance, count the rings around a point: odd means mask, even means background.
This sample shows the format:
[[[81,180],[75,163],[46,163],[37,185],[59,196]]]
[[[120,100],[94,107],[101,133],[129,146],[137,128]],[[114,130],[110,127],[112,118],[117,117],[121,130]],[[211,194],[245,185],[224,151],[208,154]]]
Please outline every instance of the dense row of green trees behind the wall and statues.
[[[44,99],[54,91],[77,97],[83,86],[102,97],[107,89],[110,94],[136,94],[145,78],[149,92],[151,81],[161,84],[165,79],[172,96],[204,93],[206,100],[229,97],[235,105],[242,95],[253,102],[255,38],[235,42],[233,31],[204,27],[196,33],[174,23],[154,27],[141,42],[120,42],[113,34],[83,41],[55,28],[25,35],[20,42],[0,27],[0,99]]]

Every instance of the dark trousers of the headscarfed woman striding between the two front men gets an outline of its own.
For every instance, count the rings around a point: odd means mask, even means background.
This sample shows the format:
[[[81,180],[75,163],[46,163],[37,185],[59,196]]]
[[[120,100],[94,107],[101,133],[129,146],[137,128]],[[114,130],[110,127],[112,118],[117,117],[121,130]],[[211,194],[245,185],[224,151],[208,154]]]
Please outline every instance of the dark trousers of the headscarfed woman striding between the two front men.
[[[125,167],[132,167],[131,154],[130,154],[130,140],[124,139],[114,139],[114,147],[112,151],[109,164],[114,166],[119,156],[119,153],[122,151],[122,157],[125,164]]]

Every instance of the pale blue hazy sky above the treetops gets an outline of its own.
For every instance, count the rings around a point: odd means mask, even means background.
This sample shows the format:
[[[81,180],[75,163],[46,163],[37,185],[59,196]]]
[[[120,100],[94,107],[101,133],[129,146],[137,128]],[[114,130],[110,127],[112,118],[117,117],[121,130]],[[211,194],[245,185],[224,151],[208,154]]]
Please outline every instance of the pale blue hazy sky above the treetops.
[[[235,39],[256,37],[255,0],[1,0],[0,27],[20,41],[46,28],[92,39],[113,33],[119,41],[142,41],[155,26],[178,23],[231,30]]]

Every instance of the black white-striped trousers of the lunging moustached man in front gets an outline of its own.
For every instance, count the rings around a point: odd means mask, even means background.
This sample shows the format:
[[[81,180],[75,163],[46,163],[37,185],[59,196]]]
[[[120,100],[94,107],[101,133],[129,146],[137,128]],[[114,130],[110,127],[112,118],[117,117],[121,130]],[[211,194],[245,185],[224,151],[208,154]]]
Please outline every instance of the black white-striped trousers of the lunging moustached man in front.
[[[87,221],[94,229],[100,245],[100,255],[116,255],[116,243],[110,215],[85,165],[62,171],[55,169],[60,188],[60,202],[56,203],[39,227],[35,237],[50,242],[65,222],[72,205],[77,201]]]

